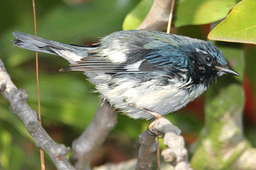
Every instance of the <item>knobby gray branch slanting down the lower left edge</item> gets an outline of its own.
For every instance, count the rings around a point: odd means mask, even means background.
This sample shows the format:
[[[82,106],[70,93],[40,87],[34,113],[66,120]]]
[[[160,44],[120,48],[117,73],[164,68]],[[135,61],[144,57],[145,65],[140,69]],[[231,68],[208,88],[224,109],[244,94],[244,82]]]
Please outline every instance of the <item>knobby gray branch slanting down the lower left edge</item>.
[[[46,130],[38,122],[36,111],[33,111],[26,102],[28,94],[23,89],[17,89],[6,72],[4,63],[0,60],[0,91],[11,104],[11,112],[18,115],[25,128],[33,137],[37,147],[41,147],[52,159],[57,169],[74,169],[66,158],[69,149],[64,145],[56,144]]]

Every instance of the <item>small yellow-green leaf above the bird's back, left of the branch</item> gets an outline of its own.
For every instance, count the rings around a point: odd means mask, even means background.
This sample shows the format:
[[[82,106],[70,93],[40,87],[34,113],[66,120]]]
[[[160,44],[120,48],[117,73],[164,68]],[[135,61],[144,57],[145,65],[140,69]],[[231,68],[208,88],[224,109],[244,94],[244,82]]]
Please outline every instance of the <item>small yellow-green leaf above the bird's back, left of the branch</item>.
[[[134,30],[149,13],[154,0],[142,0],[128,15],[124,18],[123,30]]]

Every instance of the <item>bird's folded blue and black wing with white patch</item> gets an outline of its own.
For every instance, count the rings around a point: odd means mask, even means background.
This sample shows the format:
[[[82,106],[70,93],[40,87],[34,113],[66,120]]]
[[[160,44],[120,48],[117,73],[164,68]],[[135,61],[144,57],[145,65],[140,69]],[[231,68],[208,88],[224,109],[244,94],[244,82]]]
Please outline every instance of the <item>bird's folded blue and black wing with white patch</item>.
[[[176,50],[167,42],[155,40],[136,47],[130,45],[129,49],[124,46],[98,48],[60,71],[144,73],[161,70],[175,62],[171,58]]]

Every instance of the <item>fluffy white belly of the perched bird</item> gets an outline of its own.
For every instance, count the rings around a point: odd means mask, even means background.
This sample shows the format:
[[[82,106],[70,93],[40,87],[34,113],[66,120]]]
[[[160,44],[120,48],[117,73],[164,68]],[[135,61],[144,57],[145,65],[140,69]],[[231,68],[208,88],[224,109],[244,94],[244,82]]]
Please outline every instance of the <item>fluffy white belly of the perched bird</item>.
[[[95,77],[97,79],[97,77]],[[111,79],[109,77],[109,79]],[[119,108],[131,118],[152,118],[149,113],[142,109],[146,108],[155,113],[166,115],[186,106],[194,98],[198,97],[206,90],[203,85],[198,85],[196,89],[188,91],[181,88],[183,83],[172,80],[166,86],[157,85],[156,79],[138,84],[132,79],[118,78],[118,86],[110,88],[107,83],[96,84],[96,89],[103,98],[106,98],[115,108]],[[105,81],[106,82],[106,81]]]

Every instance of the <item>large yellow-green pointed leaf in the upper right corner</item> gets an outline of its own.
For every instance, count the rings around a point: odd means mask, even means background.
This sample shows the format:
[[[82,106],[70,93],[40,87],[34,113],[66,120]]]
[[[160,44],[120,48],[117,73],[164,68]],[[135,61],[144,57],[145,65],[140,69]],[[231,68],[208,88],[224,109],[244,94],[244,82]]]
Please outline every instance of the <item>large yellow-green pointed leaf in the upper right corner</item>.
[[[208,35],[210,40],[256,44],[256,1],[241,1]]]

